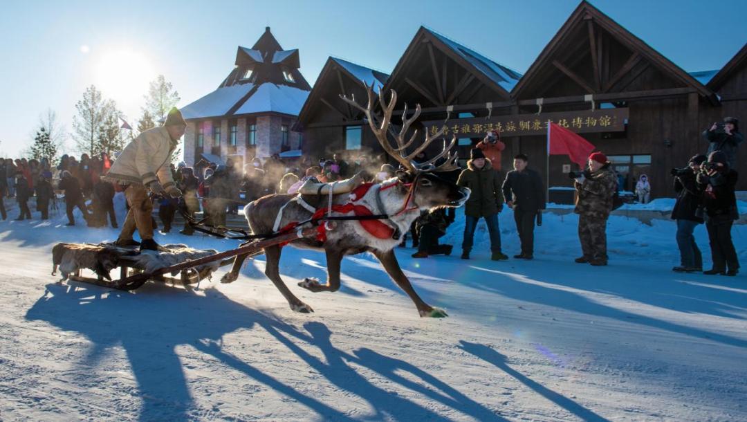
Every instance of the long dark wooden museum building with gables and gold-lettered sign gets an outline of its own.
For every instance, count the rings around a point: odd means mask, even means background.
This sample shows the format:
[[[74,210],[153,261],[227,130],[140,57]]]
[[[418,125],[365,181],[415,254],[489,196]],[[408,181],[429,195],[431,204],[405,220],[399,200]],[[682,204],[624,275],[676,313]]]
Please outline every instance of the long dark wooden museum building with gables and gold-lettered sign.
[[[522,152],[545,176],[551,120],[607,154],[626,190],[647,174],[654,197],[672,196],[669,170],[706,151],[701,131],[722,117],[744,116],[746,55],[742,49],[719,72],[688,73],[581,1],[524,75],[420,28],[382,89],[396,90],[400,103],[411,109],[421,104],[422,130],[447,126],[447,137],[459,137],[461,157],[486,129],[499,128],[506,143],[503,169]],[[337,100],[341,93],[355,93],[362,101],[362,90],[338,81],[352,82],[355,76],[348,81],[344,72],[339,77],[332,72],[333,63],[328,66],[300,115],[299,128],[308,140],[304,152],[344,150],[351,126],[362,127],[363,146],[380,151],[361,115]],[[744,154],[737,170],[747,174]],[[575,167],[565,156],[551,156],[550,185],[570,186],[566,173]],[[738,188],[747,189],[747,177]]]

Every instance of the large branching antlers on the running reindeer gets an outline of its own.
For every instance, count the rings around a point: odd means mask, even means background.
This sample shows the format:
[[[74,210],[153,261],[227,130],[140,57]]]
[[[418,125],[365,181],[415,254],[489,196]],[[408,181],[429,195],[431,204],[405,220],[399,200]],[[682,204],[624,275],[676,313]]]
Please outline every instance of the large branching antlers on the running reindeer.
[[[379,125],[376,125],[376,118],[373,115],[373,84],[371,84],[371,86],[368,86],[368,84],[363,82],[363,86],[365,87],[366,94],[368,95],[368,104],[365,108],[362,105],[359,105],[358,102],[356,102],[354,96],[351,96],[351,98],[349,99],[347,98],[347,96],[341,95],[340,98],[344,102],[347,102],[347,104],[358,108],[363,112],[363,114],[365,114],[366,120],[368,120],[368,125],[371,126],[371,131],[373,131],[376,139],[379,140],[382,148],[388,155],[391,156],[391,158],[397,160],[400,164],[403,165],[403,167],[405,167],[412,173],[449,171],[458,168],[455,165],[457,159],[456,152],[454,152],[453,154],[450,154],[449,152],[450,149],[454,145],[456,145],[456,136],[453,137],[449,146],[444,148],[444,150],[440,154],[436,155],[436,157],[431,158],[425,163],[417,165],[414,164],[412,162],[412,158],[415,158],[415,156],[425,151],[425,149],[430,145],[430,143],[433,142],[433,140],[441,137],[441,135],[444,134],[445,128],[441,128],[440,130],[436,131],[435,134],[428,134],[426,131],[424,142],[420,146],[418,146],[418,148],[416,148],[415,151],[413,151],[410,155],[406,155],[407,148],[411,146],[412,143],[415,143],[415,139],[417,139],[418,137],[418,131],[415,130],[410,139],[407,141],[405,141],[405,135],[407,134],[407,131],[409,131],[410,125],[412,125],[415,120],[418,120],[418,117],[421,114],[421,106],[419,104],[416,105],[415,113],[412,114],[412,117],[407,118],[407,105],[405,105],[402,114],[402,128],[400,128],[400,133],[394,133],[394,131],[391,131],[391,114],[394,112],[394,106],[397,105],[397,93],[394,90],[391,90],[389,101],[387,102],[384,99],[383,90],[379,89],[379,105],[381,105],[383,116]],[[390,131],[392,137],[394,137],[394,140],[397,142],[397,147],[392,146],[389,138],[387,137],[387,134]],[[444,156],[446,157],[446,161],[436,167],[434,163],[436,163],[436,161],[443,158]]]

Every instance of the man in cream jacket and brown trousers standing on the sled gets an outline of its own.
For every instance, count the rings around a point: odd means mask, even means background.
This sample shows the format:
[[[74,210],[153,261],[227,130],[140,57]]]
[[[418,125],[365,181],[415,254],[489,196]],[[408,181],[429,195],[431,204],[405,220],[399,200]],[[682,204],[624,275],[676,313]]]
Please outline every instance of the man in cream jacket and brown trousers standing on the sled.
[[[163,126],[143,131],[125,146],[112,164],[105,179],[122,185],[130,206],[120,237],[115,242],[117,246],[139,244],[141,250],[159,249],[153,240],[153,203],[148,191],[174,198],[182,196],[182,191],[173,181],[169,164],[186,129],[187,122],[182,113],[176,107],[172,108]],[[136,228],[140,243],[132,238]]]

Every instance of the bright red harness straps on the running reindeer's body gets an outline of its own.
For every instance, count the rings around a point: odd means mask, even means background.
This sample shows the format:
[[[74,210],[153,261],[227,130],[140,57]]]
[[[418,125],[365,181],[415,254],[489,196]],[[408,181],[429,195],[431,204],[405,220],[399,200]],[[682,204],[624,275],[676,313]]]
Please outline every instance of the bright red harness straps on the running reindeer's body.
[[[402,205],[402,209],[400,211],[397,211],[394,215],[391,217],[396,217],[397,215],[402,214],[403,212],[407,211],[416,211],[418,210],[418,206],[412,206],[408,208],[409,203],[412,201],[412,196],[415,195],[415,185],[416,181],[418,180],[418,176],[415,176],[415,180],[412,181],[412,183],[402,183],[400,181],[397,181],[392,184],[388,184],[379,188],[380,190],[387,190],[390,187],[397,186],[398,184],[403,184],[406,187],[409,187],[407,191],[407,196],[405,198],[405,202]],[[350,202],[347,202],[343,205],[332,205],[332,212],[340,213],[340,214],[348,214],[351,211],[356,216],[369,216],[373,215],[373,212],[371,212],[370,209],[365,207],[364,205],[358,205],[355,202],[358,202],[360,199],[362,199],[366,193],[368,193],[368,190],[373,187],[373,183],[364,183],[361,184],[359,187],[356,187],[353,192],[350,193]],[[327,212],[329,211],[329,208],[323,207],[318,208],[317,211],[314,212],[314,214],[311,216],[311,220],[320,220],[322,217],[324,217]],[[382,210],[383,211],[383,210]],[[372,235],[374,238],[377,239],[391,239],[394,235],[394,229],[391,228],[391,226],[388,226],[385,223],[382,223],[381,220],[358,220],[358,223],[365,229],[368,234]],[[279,230],[279,233],[286,233],[290,232],[291,230],[295,229],[298,226],[298,222],[294,221],[293,223],[288,223],[286,226],[282,227],[282,229]],[[326,225],[320,224],[317,226],[317,241],[325,242],[326,241]],[[288,243],[282,243],[280,246],[285,246]]]

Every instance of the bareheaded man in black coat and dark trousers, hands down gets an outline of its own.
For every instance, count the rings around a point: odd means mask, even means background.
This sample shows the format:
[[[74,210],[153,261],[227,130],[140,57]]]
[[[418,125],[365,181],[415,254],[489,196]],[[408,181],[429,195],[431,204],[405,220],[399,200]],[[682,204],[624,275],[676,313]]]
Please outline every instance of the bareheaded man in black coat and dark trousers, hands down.
[[[537,213],[545,209],[545,184],[536,171],[527,168],[529,158],[524,154],[514,157],[514,170],[506,173],[503,197],[514,211],[516,231],[521,240],[521,253],[514,258],[532,259],[534,255],[534,222]]]

